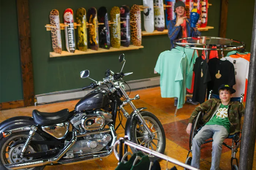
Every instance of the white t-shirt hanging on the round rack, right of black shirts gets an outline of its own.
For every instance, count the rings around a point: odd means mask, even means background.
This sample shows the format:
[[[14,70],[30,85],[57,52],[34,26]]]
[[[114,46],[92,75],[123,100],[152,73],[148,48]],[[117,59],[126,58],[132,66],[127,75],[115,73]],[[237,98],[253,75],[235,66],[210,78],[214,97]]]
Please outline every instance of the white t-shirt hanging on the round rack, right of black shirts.
[[[233,88],[236,90],[236,93],[232,94],[232,97],[241,97],[241,94],[245,92],[245,80],[248,79],[249,73],[249,61],[244,58],[232,58],[224,57],[221,60],[228,60],[233,63],[235,67],[236,75],[236,84]]]

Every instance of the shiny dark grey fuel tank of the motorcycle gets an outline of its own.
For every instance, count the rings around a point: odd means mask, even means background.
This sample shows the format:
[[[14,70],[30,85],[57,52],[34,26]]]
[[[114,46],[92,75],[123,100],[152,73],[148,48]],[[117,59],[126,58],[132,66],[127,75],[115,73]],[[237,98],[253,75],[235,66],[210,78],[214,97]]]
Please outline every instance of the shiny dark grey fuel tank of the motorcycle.
[[[103,108],[108,104],[108,91],[105,89],[95,89],[84,96],[75,107],[75,111]]]

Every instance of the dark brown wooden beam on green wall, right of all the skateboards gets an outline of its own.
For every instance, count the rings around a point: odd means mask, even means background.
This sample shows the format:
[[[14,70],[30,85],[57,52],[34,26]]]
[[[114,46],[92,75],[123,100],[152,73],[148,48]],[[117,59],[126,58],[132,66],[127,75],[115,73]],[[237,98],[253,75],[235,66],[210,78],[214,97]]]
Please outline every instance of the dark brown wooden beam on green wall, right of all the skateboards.
[[[225,38],[227,29],[227,9],[229,7],[229,0],[221,1],[221,24],[219,27],[219,36]]]

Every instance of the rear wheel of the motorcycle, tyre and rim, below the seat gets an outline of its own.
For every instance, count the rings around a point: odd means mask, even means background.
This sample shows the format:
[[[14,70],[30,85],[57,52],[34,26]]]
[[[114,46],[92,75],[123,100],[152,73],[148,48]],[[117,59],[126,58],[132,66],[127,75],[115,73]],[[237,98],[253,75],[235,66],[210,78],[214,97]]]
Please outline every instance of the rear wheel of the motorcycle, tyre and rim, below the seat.
[[[29,131],[23,132],[15,132],[6,138],[0,139],[0,169],[1,170],[8,170],[4,164],[8,163],[18,163],[18,162],[26,162],[32,159],[37,158],[17,158],[16,155],[19,154],[19,151],[22,149],[23,144],[18,144],[17,146],[11,147],[14,145],[15,142],[19,140],[26,140],[27,136],[29,135]],[[35,133],[32,140],[44,140],[40,135]],[[25,153],[33,153],[33,152],[40,152],[40,151],[47,151],[47,145],[29,145]],[[32,167],[26,170],[43,170],[45,166],[37,166]],[[24,169],[25,170],[25,169]]]

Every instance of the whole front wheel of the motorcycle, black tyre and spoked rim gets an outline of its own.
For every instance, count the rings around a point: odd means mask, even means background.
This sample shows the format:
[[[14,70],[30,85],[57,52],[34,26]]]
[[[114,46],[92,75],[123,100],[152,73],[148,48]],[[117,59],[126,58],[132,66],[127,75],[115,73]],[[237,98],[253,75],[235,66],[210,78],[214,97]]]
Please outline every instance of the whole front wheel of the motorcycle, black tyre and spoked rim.
[[[148,135],[148,132],[143,124],[139,123],[137,119],[134,119],[131,129],[131,142],[137,143],[140,146],[149,148],[156,152],[163,154],[165,152],[165,131],[158,118],[148,111],[140,111],[143,119],[146,121],[148,127],[153,132],[153,138]],[[131,147],[133,153],[139,152],[139,150]],[[146,152],[143,152],[148,155]],[[151,161],[159,159],[158,157],[149,157]]]

